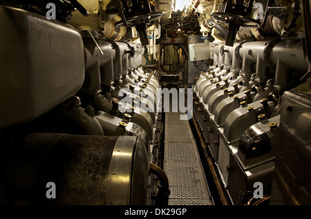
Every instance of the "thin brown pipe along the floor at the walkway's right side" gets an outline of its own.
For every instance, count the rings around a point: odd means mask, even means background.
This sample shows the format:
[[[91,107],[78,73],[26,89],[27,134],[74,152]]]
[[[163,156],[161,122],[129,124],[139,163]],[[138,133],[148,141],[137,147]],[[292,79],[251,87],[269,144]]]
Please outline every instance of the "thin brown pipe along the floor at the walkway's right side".
[[[192,116],[192,121],[194,123],[194,127],[196,128],[196,133],[198,134],[202,149],[205,150],[205,149],[207,149],[207,145],[206,145],[205,140],[203,138],[202,132],[200,131],[200,128],[198,127],[198,123],[196,121],[196,118],[194,118],[194,116]],[[227,198],[227,194],[225,192],[225,189],[223,188],[223,184],[221,183],[220,178],[218,177],[216,167],[214,165],[214,161],[210,156],[208,156],[206,159],[207,159],[207,165],[209,167],[209,171],[211,172],[211,176],[212,176],[214,183],[216,185],[218,195],[220,196],[220,201],[223,205],[229,205],[229,200]]]

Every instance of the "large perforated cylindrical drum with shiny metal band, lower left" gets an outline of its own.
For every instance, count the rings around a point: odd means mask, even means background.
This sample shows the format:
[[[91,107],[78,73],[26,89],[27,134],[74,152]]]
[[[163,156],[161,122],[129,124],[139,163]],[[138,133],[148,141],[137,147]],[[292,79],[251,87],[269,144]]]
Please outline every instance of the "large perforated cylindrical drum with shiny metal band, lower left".
[[[2,189],[8,205],[146,205],[148,176],[137,136],[30,134],[6,165]]]

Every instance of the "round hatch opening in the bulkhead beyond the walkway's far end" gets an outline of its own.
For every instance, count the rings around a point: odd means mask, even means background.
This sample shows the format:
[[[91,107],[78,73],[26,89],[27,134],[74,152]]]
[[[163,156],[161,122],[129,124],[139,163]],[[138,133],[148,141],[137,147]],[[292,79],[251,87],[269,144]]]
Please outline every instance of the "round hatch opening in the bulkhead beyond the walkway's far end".
[[[180,45],[169,44],[161,49],[161,69],[164,72],[177,73],[185,67],[186,52]]]

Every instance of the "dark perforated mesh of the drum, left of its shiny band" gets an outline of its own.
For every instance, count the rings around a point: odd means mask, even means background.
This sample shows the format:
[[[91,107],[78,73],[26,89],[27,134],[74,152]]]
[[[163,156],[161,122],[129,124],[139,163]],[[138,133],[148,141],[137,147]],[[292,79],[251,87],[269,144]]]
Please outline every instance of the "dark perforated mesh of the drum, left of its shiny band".
[[[107,180],[117,136],[57,139],[44,165],[44,181],[56,185],[56,205],[106,205]]]

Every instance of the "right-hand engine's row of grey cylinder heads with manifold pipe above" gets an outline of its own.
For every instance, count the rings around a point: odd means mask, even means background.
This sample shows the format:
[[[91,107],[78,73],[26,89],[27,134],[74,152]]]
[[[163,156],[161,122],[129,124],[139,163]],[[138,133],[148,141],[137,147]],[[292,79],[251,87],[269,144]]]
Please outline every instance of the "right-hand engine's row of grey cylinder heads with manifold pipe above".
[[[242,41],[233,47],[220,43],[213,52],[214,65],[200,72],[194,81],[196,120],[225,187],[232,186],[232,160],[247,178],[269,184],[279,138],[282,94],[299,85],[310,67],[303,44],[299,39]],[[250,135],[255,129],[258,134]],[[266,168],[265,174],[262,169],[256,173],[261,165]]]

